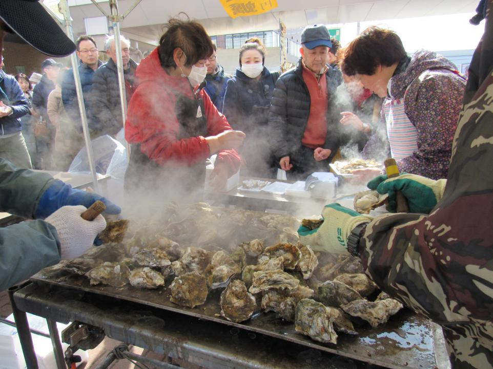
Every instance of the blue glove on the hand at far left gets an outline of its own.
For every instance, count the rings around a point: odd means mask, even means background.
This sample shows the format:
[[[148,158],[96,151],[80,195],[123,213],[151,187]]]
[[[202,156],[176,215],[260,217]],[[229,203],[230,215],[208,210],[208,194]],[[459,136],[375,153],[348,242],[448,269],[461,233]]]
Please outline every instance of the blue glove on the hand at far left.
[[[45,219],[48,215],[62,206],[84,205],[88,208],[97,200],[105,203],[105,214],[116,215],[121,212],[119,206],[113,204],[104,197],[99,196],[97,193],[74,189],[71,185],[66,184],[63,181],[55,180],[39,199],[34,216],[36,219]]]

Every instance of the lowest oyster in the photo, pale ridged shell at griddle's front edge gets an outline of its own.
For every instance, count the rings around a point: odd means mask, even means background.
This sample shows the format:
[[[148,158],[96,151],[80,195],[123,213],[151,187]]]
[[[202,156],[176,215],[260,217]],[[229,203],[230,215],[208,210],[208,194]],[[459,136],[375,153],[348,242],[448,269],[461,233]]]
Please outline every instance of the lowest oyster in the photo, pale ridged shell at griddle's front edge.
[[[337,343],[337,333],[333,327],[334,316],[330,309],[309,298],[298,302],[295,313],[296,332],[316,341]]]

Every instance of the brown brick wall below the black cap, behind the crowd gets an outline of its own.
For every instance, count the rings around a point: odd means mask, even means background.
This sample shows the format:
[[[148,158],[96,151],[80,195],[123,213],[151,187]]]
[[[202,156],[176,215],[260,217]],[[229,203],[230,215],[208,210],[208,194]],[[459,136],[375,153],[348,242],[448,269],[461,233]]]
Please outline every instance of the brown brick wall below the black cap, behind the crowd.
[[[17,44],[16,42],[4,42],[3,56],[5,63],[4,71],[6,73],[15,75],[17,73],[15,67],[24,66],[27,76],[30,76],[33,72],[43,74],[41,63],[43,60],[49,58],[49,56],[40,53],[27,44]],[[53,59],[63,63],[64,66],[71,67],[70,57]]]

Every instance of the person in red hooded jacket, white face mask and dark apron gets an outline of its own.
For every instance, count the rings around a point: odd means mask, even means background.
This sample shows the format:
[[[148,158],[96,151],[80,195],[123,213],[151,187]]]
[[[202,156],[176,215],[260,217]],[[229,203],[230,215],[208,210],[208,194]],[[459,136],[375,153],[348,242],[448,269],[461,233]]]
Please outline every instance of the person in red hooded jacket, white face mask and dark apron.
[[[223,188],[238,170],[235,149],[244,134],[231,129],[203,91],[212,52],[200,24],[172,18],[159,46],[140,62],[125,125],[127,193],[145,189],[153,200],[194,201],[203,192],[208,157],[217,154],[213,187]]]

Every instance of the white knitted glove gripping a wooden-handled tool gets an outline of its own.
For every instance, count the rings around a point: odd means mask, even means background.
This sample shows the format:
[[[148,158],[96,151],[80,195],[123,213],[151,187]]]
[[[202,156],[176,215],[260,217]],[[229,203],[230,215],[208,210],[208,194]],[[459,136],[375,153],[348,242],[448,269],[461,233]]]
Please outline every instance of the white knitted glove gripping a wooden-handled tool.
[[[45,219],[58,233],[61,259],[73,259],[82,255],[91,247],[98,233],[106,228],[102,215],[98,215],[93,221],[84,220],[80,214],[86,210],[83,205],[63,206]]]

